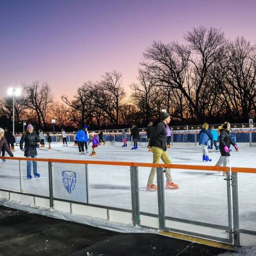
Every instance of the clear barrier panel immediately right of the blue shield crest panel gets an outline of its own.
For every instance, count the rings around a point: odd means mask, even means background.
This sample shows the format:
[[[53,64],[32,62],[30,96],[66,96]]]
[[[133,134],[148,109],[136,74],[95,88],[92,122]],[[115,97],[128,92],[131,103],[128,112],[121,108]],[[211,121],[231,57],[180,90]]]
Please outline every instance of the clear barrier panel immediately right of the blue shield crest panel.
[[[89,203],[132,209],[130,166],[88,165]]]

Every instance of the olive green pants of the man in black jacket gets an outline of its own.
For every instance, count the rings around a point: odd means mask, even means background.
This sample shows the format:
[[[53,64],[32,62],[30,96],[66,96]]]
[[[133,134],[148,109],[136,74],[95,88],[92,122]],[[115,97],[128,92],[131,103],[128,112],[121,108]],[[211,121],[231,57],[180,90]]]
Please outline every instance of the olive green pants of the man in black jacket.
[[[153,153],[153,163],[159,163],[160,159],[166,164],[172,163],[169,159],[169,156],[166,151],[162,150],[162,148],[153,146],[151,148],[151,151]],[[148,184],[153,185],[154,184],[154,178],[156,175],[156,167],[151,168],[150,172],[150,177],[148,177]],[[172,182],[172,175],[170,175],[170,169],[165,169],[165,177],[166,177],[166,182]]]

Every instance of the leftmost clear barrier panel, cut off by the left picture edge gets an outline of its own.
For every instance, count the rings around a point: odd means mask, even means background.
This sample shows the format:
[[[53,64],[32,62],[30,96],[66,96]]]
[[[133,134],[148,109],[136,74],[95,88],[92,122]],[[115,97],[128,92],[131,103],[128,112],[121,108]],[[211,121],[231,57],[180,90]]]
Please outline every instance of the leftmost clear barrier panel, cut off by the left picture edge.
[[[19,161],[0,160],[0,188],[20,192]]]

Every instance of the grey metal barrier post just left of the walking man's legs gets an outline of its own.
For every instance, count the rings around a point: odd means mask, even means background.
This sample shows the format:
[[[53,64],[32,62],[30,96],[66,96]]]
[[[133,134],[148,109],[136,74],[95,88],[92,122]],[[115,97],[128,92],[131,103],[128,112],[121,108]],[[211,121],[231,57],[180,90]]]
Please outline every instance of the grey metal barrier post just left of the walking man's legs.
[[[140,201],[139,201],[139,174],[138,166],[131,166],[131,195],[133,210],[133,225],[140,225]]]

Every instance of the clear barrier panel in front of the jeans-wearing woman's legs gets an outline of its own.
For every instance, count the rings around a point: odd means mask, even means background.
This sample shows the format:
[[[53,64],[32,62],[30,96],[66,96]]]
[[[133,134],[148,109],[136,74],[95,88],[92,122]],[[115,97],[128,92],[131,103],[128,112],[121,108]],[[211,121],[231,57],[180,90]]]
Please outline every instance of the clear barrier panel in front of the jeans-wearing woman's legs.
[[[17,160],[16,160],[17,161]],[[22,193],[34,194],[38,196],[49,197],[49,173],[48,162],[34,161],[36,163],[37,173],[40,178],[35,178],[33,161],[31,162],[31,175],[32,179],[27,179],[27,160],[20,161],[20,184]],[[17,161],[18,162],[18,161]]]

